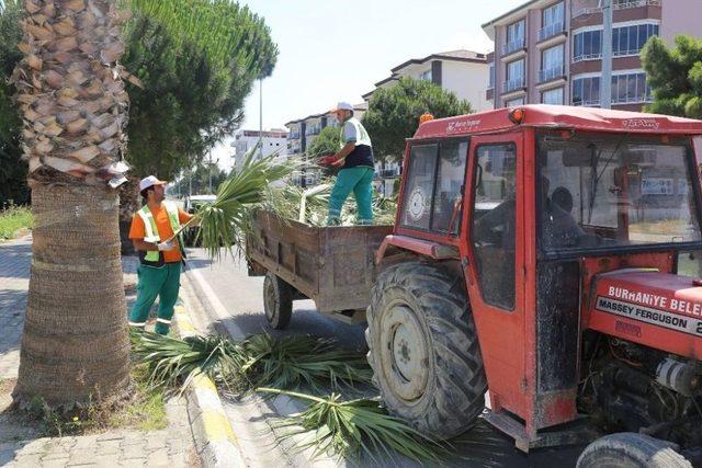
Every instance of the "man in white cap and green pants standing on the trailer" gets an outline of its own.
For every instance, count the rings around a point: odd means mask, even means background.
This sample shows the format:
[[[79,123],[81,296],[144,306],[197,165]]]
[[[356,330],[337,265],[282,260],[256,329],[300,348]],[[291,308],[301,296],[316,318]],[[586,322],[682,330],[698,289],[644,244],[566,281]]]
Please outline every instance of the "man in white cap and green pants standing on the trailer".
[[[367,132],[353,116],[353,106],[340,102],[332,112],[341,124],[341,149],[333,155],[332,165],[341,168],[329,197],[328,226],[341,222],[341,208],[351,192],[358,205],[359,225],[373,222],[373,147]]]

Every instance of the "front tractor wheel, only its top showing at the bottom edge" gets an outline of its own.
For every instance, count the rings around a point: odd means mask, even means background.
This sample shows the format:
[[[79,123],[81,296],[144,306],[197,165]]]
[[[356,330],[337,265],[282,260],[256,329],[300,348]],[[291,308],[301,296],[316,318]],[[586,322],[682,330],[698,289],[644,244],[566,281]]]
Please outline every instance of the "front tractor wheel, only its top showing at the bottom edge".
[[[649,435],[622,432],[588,445],[577,468],[692,468],[677,446]]]

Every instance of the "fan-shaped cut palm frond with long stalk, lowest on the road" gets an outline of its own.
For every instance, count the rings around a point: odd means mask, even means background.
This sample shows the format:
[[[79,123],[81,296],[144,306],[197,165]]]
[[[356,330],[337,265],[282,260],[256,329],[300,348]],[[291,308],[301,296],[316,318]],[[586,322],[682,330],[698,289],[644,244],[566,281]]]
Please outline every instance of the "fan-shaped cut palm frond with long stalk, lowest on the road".
[[[337,393],[319,398],[265,387],[258,391],[309,402],[305,411],[283,418],[274,426],[283,430],[279,440],[292,441],[299,450],[312,448],[313,457],[331,453],[353,459],[365,454],[378,465],[387,465],[376,457],[384,454],[392,458],[395,452],[419,463],[439,463],[449,448],[388,414],[378,399],[343,401]]]

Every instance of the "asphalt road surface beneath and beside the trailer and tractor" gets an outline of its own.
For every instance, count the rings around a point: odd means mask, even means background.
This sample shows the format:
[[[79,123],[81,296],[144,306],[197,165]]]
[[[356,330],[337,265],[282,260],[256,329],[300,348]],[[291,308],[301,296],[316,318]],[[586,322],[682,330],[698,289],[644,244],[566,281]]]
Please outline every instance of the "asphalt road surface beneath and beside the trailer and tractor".
[[[308,333],[336,338],[348,347],[365,346],[364,326],[350,326],[326,317],[315,310],[315,304],[312,300],[294,303],[293,319],[287,330],[282,332],[271,330],[263,313],[261,294],[263,278],[249,277],[242,259],[225,256],[218,262],[211,262],[202,249],[191,249],[189,258],[186,275],[189,283],[193,286],[191,294],[195,294],[206,309],[196,313],[201,319],[201,329],[227,333],[235,340],[261,332]],[[239,433],[245,452],[260,455],[260,458],[254,457],[256,459],[249,460],[251,466],[270,466],[271,463],[313,466],[306,460],[304,454],[295,456],[286,447],[276,446],[268,424],[271,416],[281,412],[294,412],[294,406],[286,406],[285,402],[273,406],[260,401],[225,400],[225,407],[235,430]],[[468,467],[573,467],[584,448],[584,446],[575,446],[537,449],[532,450],[530,455],[524,455],[514,448],[511,438],[497,432],[483,420],[453,444],[460,458],[451,465]],[[315,467],[319,465],[336,464],[332,460],[314,464]]]

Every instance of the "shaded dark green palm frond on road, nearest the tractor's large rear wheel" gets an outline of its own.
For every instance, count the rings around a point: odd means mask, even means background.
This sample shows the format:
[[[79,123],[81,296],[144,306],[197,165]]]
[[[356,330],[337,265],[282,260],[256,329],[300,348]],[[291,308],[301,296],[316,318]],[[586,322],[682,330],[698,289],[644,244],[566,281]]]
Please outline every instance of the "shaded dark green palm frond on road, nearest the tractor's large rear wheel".
[[[252,335],[241,343],[249,361],[241,368],[248,388],[283,389],[321,386],[335,389],[370,385],[373,372],[365,355],[338,349],[333,340],[306,335]]]

